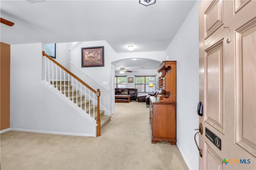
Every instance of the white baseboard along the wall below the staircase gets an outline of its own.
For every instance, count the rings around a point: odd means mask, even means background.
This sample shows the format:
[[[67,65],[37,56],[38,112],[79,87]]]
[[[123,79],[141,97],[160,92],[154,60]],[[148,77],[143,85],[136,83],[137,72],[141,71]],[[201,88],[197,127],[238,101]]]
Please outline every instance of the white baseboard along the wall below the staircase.
[[[24,129],[24,128],[10,128],[10,130],[21,131],[21,132],[34,132],[34,133],[46,133],[46,134],[61,134],[69,136],[94,136],[88,133],[73,133],[73,132],[58,132],[58,131],[48,131],[48,130],[34,130],[34,129]]]

